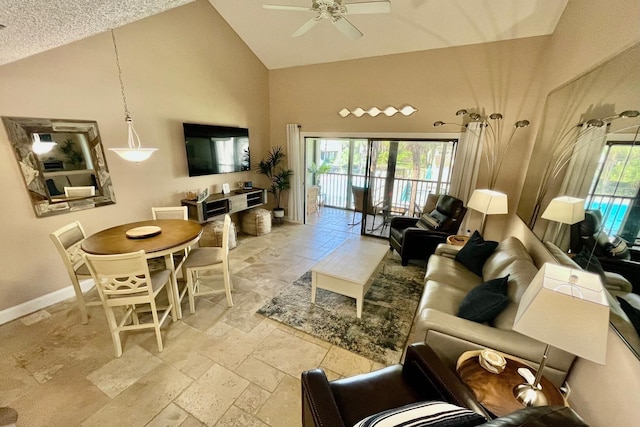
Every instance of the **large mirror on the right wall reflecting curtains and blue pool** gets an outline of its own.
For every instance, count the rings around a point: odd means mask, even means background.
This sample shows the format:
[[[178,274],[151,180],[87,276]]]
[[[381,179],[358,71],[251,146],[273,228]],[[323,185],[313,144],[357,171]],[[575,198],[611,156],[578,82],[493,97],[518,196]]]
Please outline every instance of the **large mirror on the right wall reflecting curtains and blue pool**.
[[[640,150],[638,70],[640,44],[553,90],[547,97],[516,211],[540,240],[551,240],[563,251],[569,248],[570,240],[573,246],[576,226],[579,229],[579,224],[558,228],[562,224],[541,218],[553,198],[573,196],[586,199],[587,208],[602,211],[605,222],[611,225],[606,225],[601,231],[609,237],[625,236],[630,245],[637,245],[640,241],[640,182],[635,174],[639,166],[638,161],[634,160]],[[563,144],[566,149],[559,149]],[[613,156],[613,147],[619,149],[620,156]],[[564,155],[564,166],[559,159],[562,152],[568,153]],[[609,162],[611,159],[613,161]],[[549,175],[548,165],[562,168],[558,173]],[[612,179],[602,184],[600,177],[607,168]],[[613,173],[615,168],[619,168],[617,175]],[[597,182],[597,185],[592,188],[593,182]],[[590,251],[591,256],[597,253],[593,247],[585,246],[584,249]],[[631,250],[632,259],[626,266],[635,269],[635,272],[626,270],[624,276],[633,282],[640,275],[640,263],[637,259],[634,261],[638,249],[637,246],[628,249]],[[605,271],[622,272],[608,266],[603,258],[600,259]],[[628,289],[615,289],[612,285],[606,286],[611,296],[611,324],[640,358],[640,331],[634,328],[629,316],[625,316],[623,303],[618,299],[631,301],[640,309],[640,289],[636,284],[631,292]]]

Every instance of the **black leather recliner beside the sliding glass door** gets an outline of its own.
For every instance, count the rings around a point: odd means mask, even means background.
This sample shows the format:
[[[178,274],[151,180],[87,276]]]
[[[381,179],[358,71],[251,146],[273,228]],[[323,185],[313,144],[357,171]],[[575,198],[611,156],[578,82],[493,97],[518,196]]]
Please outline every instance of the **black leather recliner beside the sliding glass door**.
[[[402,265],[407,265],[410,259],[426,260],[449,235],[458,232],[466,212],[462,200],[442,195],[435,209],[420,218],[393,218],[389,247],[400,254]]]

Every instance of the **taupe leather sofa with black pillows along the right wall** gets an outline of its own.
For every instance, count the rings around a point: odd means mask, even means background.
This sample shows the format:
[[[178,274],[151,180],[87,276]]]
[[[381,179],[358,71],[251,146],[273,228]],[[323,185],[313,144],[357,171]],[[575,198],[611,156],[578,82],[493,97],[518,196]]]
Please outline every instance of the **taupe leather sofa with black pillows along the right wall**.
[[[518,303],[538,272],[526,248],[515,237],[501,241],[484,263],[482,277],[455,260],[459,246],[441,244],[429,258],[425,286],[407,342],[426,342],[450,368],[469,350],[492,348],[537,367],[545,344],[512,330]],[[507,307],[492,324],[457,316],[464,297],[481,283],[509,274]],[[544,375],[560,386],[575,356],[551,348]]]

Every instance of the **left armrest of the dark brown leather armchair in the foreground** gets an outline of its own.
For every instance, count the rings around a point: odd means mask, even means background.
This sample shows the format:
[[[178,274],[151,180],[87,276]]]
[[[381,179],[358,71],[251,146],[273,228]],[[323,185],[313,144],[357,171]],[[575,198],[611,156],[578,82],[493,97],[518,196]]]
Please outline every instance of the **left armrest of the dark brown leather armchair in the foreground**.
[[[322,369],[302,373],[302,425],[344,427],[329,381]]]

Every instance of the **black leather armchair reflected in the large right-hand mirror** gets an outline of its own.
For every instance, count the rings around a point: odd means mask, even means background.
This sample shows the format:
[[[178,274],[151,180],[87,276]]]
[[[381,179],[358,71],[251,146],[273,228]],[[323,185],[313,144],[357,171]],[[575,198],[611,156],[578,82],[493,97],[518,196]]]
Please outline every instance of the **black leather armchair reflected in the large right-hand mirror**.
[[[571,252],[579,253],[583,248],[593,251],[605,271],[620,274],[631,282],[634,293],[640,293],[640,262],[631,259],[628,248],[616,250],[616,245],[602,231],[602,213],[599,210],[587,210],[584,217],[571,226]]]

